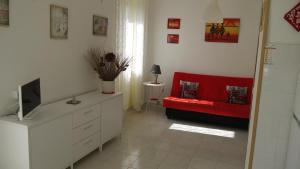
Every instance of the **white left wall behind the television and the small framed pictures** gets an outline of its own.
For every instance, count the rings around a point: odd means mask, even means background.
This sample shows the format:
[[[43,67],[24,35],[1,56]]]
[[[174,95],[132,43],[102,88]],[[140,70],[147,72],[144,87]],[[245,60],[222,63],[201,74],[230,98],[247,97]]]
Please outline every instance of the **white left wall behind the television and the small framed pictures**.
[[[69,38],[49,38],[50,4],[69,9]],[[107,38],[92,35],[93,14],[109,17]],[[43,102],[96,89],[84,59],[90,47],[114,48],[114,0],[10,1],[10,26],[0,27],[0,115],[13,104],[19,84],[41,78]]]

